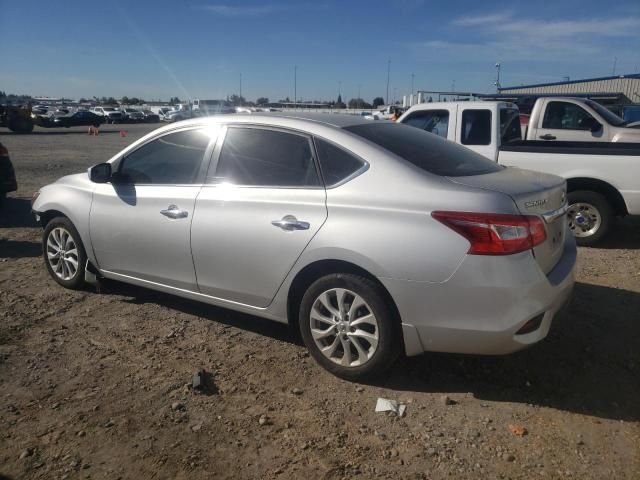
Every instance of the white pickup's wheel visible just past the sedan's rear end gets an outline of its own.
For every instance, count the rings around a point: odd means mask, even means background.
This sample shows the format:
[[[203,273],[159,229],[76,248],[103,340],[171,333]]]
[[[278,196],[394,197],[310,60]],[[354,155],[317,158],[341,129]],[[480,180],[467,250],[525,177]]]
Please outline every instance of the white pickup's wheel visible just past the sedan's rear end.
[[[576,243],[591,247],[607,234],[613,222],[613,208],[607,199],[596,192],[577,190],[570,192],[569,228],[576,237]]]

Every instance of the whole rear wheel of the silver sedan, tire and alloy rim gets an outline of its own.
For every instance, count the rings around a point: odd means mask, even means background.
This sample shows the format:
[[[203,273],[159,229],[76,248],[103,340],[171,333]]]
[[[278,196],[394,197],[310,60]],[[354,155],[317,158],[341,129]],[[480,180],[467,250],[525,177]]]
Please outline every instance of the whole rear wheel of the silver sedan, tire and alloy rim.
[[[382,288],[353,274],[331,274],[307,289],[300,332],[313,358],[348,380],[383,373],[400,353],[398,325]]]

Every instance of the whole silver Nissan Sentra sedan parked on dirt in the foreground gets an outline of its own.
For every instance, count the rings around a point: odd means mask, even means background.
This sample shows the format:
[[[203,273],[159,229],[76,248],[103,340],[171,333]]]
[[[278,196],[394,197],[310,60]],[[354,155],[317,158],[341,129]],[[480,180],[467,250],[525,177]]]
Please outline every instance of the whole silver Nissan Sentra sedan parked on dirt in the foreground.
[[[529,346],[574,283],[562,179],[357,116],[168,125],[33,210],[62,286],[104,277],[294,324],[348,379]]]

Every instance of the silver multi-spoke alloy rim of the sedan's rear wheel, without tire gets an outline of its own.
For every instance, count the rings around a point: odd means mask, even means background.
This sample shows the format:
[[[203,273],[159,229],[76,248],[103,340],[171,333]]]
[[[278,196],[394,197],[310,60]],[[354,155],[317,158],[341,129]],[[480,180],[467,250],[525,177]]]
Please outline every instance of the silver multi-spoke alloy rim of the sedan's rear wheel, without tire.
[[[378,349],[378,320],[367,302],[351,290],[333,288],[320,294],[309,321],[316,346],[338,365],[364,365]]]

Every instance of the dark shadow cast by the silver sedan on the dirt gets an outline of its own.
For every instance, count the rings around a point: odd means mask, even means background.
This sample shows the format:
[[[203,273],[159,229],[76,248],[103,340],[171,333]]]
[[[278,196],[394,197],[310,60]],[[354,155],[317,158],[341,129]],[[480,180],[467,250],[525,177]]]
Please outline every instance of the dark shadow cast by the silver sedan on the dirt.
[[[155,303],[211,321],[303,345],[296,328],[153,292],[104,282],[103,293]],[[577,283],[549,336],[506,356],[427,353],[401,359],[370,382],[396,391],[471,393],[480,400],[549,407],[595,417],[640,420],[640,294]]]

